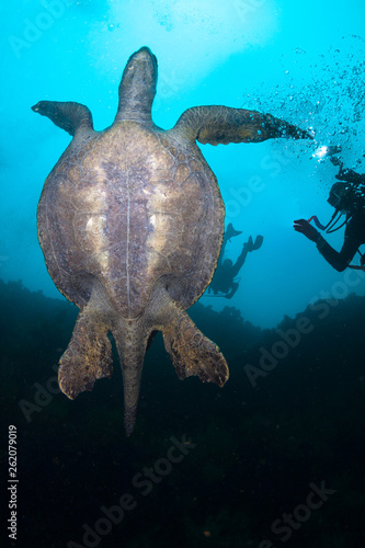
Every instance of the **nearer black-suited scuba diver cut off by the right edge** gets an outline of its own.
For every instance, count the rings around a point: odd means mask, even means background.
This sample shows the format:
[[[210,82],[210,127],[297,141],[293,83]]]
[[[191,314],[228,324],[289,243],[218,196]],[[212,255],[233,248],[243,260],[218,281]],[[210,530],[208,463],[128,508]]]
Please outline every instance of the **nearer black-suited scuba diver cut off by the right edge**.
[[[333,149],[334,151],[330,147],[330,155],[339,151],[338,147],[333,147]],[[316,242],[318,251],[337,271],[342,272],[347,266],[365,270],[365,255],[362,255],[358,251],[360,246],[365,243],[365,174],[344,169],[343,163],[335,157],[331,157],[330,160],[334,165],[340,165],[340,171],[335,178],[342,181],[333,184],[328,198],[328,203],[335,208],[331,220],[323,227],[317,216],[313,215],[309,220],[295,220],[294,230]],[[337,226],[342,215],[345,215],[345,220]],[[311,220],[327,233],[334,232],[345,225],[344,242],[340,252],[331,248],[319,231],[310,225]],[[361,255],[360,266],[350,264],[356,251]]]

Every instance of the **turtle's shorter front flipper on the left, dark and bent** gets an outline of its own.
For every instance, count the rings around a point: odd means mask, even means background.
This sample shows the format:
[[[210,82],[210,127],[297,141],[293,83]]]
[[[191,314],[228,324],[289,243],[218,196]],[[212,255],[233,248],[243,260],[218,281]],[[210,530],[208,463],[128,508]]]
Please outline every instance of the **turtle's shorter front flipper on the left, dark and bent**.
[[[72,137],[77,133],[84,130],[93,133],[92,114],[83,104],[39,101],[32,106],[32,111],[42,114],[42,116],[47,116],[56,126],[65,129]]]

